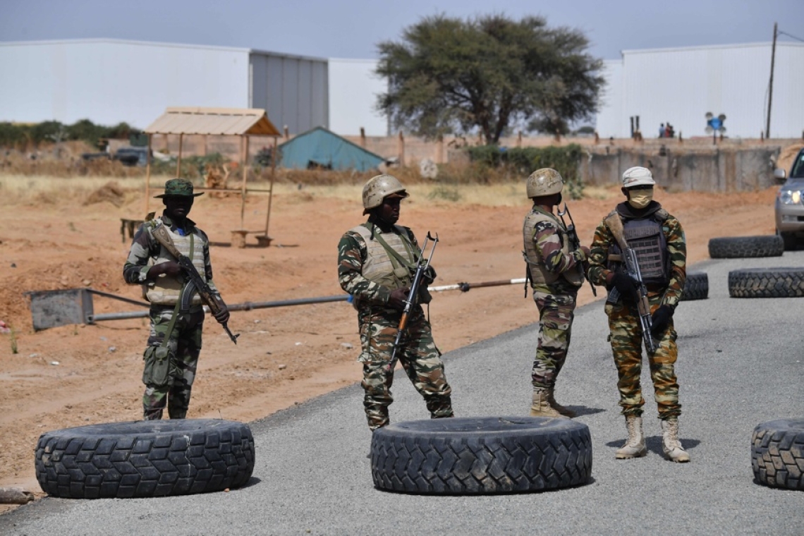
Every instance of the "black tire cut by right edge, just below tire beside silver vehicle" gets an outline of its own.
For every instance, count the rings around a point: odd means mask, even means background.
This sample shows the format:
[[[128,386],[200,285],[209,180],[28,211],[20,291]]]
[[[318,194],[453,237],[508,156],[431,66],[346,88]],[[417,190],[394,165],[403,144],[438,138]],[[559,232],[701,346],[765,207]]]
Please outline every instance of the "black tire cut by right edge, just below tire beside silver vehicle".
[[[804,268],[746,268],[728,272],[732,298],[798,298],[804,296]]]

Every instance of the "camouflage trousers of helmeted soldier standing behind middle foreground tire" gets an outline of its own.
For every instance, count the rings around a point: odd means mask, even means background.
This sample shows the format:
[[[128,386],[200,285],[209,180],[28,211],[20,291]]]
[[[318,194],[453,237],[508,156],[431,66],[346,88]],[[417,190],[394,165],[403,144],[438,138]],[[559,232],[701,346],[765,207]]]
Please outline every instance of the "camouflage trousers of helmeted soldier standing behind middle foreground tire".
[[[392,309],[364,308],[359,312],[360,345],[358,358],[363,362],[363,407],[368,428],[375,430],[388,424],[388,406],[393,402],[391,369],[393,343],[401,313]],[[411,313],[408,327],[397,351],[413,387],[424,397],[433,419],[452,417],[452,388],[444,374],[441,352],[433,342],[430,323],[421,307]]]

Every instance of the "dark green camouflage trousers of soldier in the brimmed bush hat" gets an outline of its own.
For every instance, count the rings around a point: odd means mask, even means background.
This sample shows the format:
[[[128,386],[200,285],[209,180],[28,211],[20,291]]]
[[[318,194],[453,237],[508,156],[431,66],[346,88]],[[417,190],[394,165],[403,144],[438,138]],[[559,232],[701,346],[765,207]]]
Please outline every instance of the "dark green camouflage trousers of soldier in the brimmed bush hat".
[[[162,345],[170,318],[173,317],[173,309],[171,305],[151,306],[149,349]],[[146,385],[146,392],[142,396],[143,419],[162,419],[165,406],[170,419],[184,419],[187,416],[195,369],[201,353],[203,318],[203,309],[200,308],[191,309],[189,313],[178,313],[167,344],[170,359],[174,360],[174,372],[166,385],[151,383],[146,374],[143,374],[143,383]]]

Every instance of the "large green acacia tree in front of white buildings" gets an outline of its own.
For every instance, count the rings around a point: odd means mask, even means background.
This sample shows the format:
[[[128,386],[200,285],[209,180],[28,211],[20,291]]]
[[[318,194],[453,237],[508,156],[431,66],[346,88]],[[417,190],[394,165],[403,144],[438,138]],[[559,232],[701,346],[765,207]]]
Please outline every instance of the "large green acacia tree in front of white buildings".
[[[441,14],[378,47],[376,72],[389,84],[377,108],[425,137],[478,128],[496,144],[516,124],[558,132],[597,111],[604,84],[585,35],[541,17]]]

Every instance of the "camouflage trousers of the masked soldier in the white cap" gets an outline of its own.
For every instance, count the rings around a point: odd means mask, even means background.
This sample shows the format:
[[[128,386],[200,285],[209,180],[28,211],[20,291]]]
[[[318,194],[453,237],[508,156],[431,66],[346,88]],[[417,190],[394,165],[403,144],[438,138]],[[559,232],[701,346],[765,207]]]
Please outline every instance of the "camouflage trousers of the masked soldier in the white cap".
[[[661,305],[661,294],[648,293],[650,312],[653,313]],[[609,341],[614,354],[614,365],[617,366],[617,389],[620,391],[622,415],[642,415],[642,388],[639,378],[642,375],[642,326],[636,305],[605,305],[609,315]],[[650,379],[654,384],[654,398],[658,406],[659,419],[668,419],[681,415],[679,404],[679,383],[675,378],[675,360],[679,349],[675,345],[677,335],[671,320],[670,325],[659,340],[658,348],[653,355],[648,355]]]

